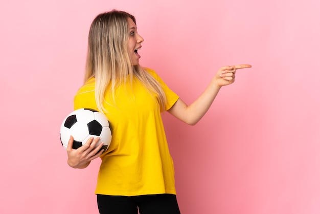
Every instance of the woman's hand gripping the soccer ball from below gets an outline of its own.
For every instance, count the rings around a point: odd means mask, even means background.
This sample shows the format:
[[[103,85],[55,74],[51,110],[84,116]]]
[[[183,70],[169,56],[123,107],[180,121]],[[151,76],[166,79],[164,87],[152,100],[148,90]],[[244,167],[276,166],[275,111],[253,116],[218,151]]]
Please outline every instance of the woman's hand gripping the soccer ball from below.
[[[99,137],[97,138],[89,138],[86,143],[77,148],[72,148],[73,145],[73,136],[70,136],[68,141],[68,145],[66,148],[66,152],[68,155],[67,163],[69,166],[73,168],[85,168],[90,164],[90,161],[98,158],[103,153],[103,142],[101,142],[97,147],[96,144],[100,140]],[[100,151],[101,149],[101,151]]]

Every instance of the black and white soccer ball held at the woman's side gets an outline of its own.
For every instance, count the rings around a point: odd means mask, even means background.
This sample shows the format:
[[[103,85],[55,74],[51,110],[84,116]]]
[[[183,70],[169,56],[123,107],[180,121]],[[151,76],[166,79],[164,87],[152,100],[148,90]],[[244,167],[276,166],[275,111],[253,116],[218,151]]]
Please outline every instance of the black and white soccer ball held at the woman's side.
[[[107,150],[111,142],[111,127],[108,118],[93,109],[78,109],[68,114],[60,127],[60,140],[66,149],[70,136],[73,136],[73,148],[84,145],[90,137],[100,137],[103,142],[102,149]]]

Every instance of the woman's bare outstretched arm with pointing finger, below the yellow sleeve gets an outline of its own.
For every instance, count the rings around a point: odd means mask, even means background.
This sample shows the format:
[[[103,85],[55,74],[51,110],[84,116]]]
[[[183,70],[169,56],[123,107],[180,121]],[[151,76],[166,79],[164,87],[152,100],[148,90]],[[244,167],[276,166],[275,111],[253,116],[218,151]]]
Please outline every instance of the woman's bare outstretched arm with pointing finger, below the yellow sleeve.
[[[224,66],[219,69],[211,80],[207,89],[190,105],[181,99],[168,110],[170,114],[179,120],[195,125],[209,110],[222,86],[232,84],[235,81],[237,69],[251,68],[250,65]]]

